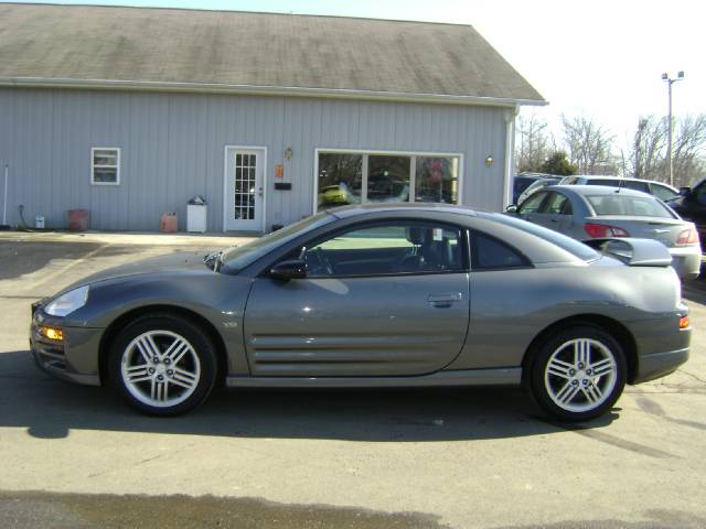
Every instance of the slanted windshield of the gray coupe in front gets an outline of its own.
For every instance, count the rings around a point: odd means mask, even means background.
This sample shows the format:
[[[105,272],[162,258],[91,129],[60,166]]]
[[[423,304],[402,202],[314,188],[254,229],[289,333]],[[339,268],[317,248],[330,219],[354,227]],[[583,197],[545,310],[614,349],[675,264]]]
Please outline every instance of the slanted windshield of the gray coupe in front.
[[[227,248],[223,250],[221,261],[224,267],[227,267],[228,271],[238,272],[278,246],[334,220],[335,217],[333,215],[327,212],[319,213],[312,217],[290,224],[286,228],[254,239],[246,245]]]

